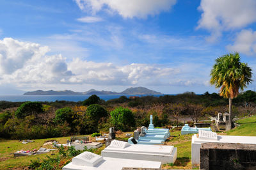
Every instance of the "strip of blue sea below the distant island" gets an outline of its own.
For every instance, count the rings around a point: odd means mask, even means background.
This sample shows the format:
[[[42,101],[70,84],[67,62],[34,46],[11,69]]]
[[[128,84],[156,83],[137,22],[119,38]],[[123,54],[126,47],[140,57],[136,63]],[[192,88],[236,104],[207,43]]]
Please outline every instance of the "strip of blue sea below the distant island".
[[[0,101],[8,102],[55,102],[56,100],[66,100],[70,102],[83,101],[90,97],[91,95],[0,95]],[[121,96],[126,96],[127,98],[131,96],[147,96],[147,95],[97,95],[99,98],[107,101],[113,98],[119,98]],[[163,95],[153,95],[154,97],[159,97]]]

